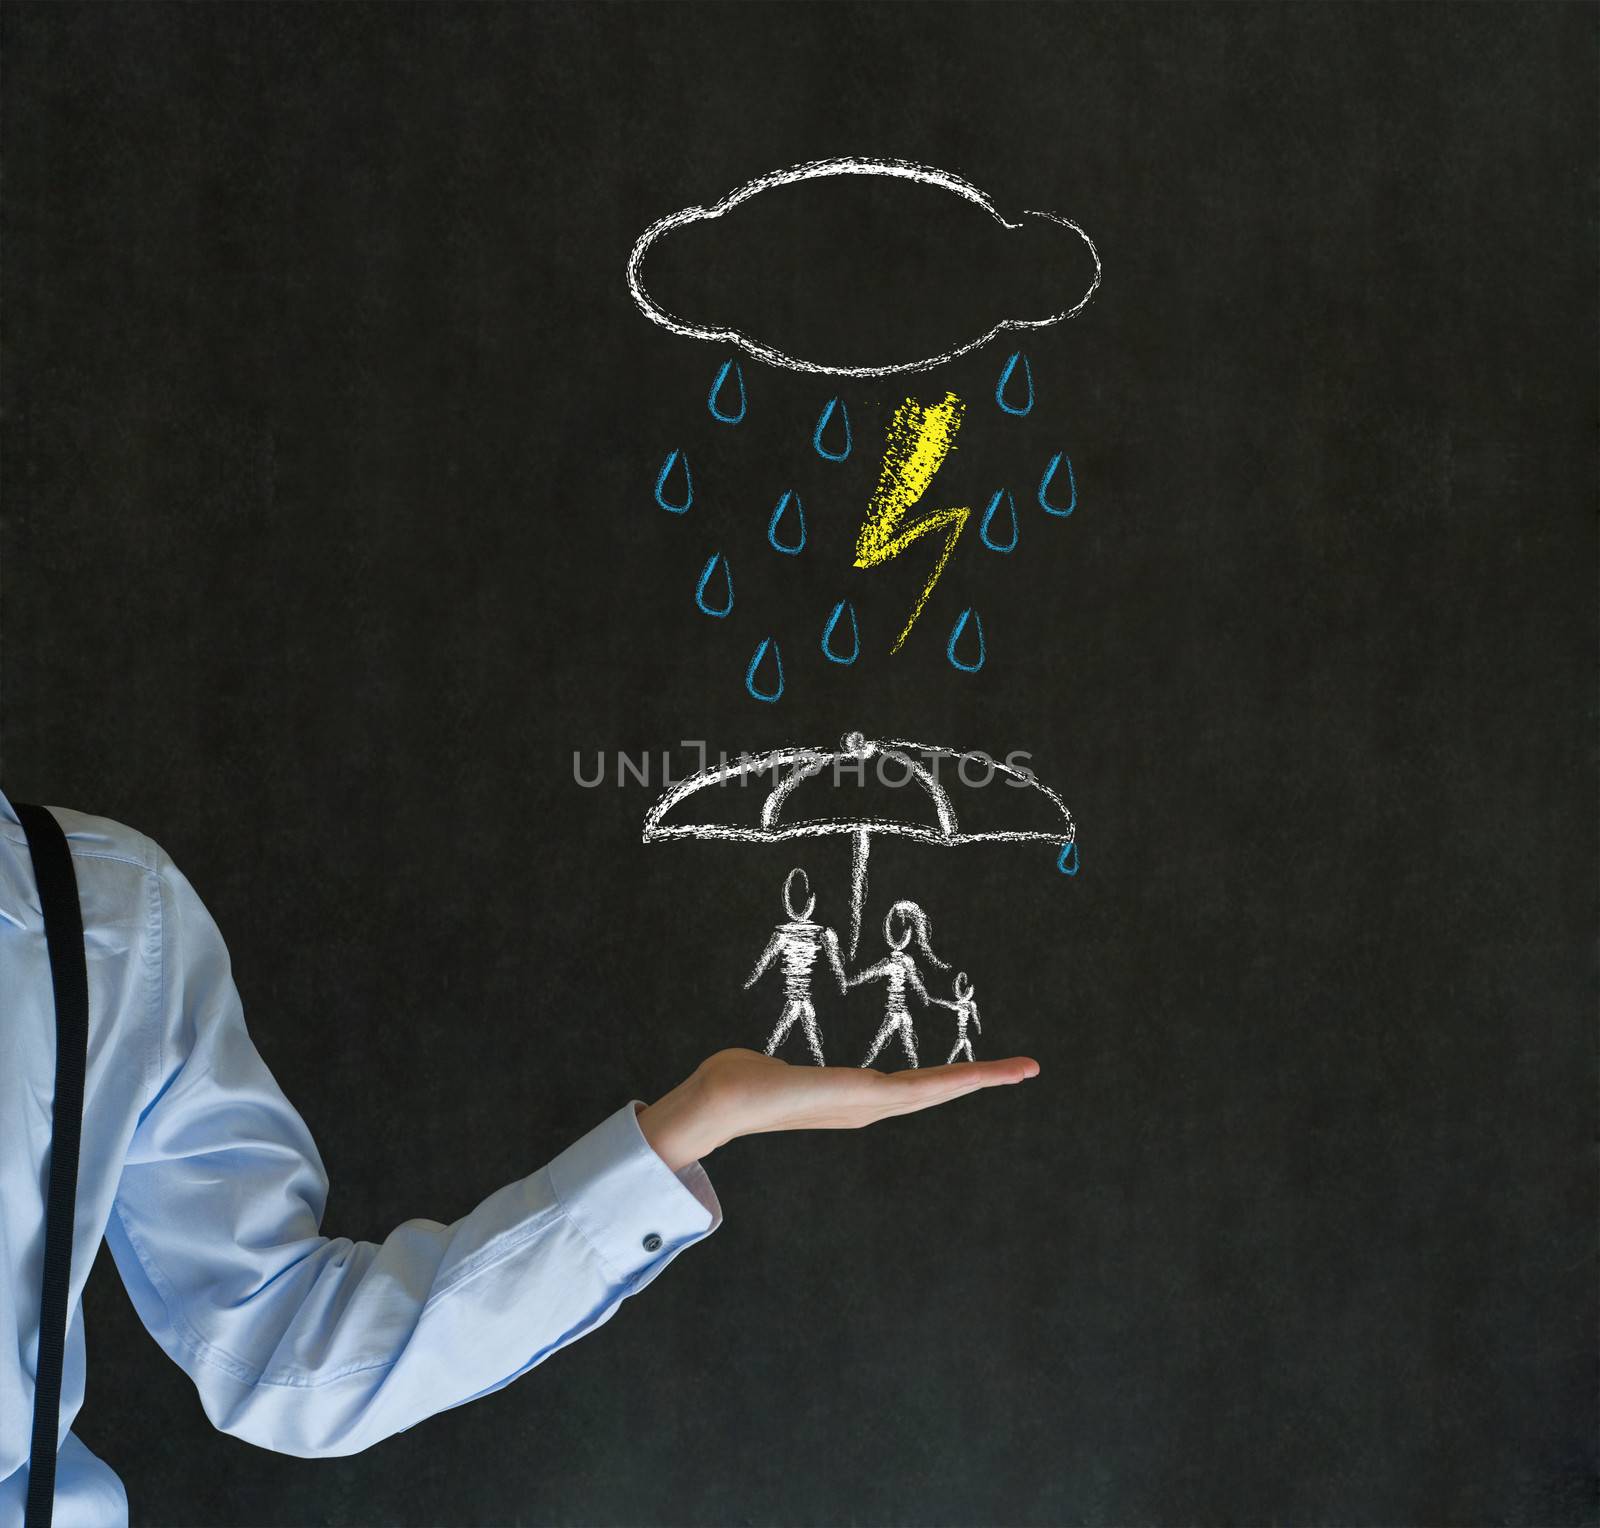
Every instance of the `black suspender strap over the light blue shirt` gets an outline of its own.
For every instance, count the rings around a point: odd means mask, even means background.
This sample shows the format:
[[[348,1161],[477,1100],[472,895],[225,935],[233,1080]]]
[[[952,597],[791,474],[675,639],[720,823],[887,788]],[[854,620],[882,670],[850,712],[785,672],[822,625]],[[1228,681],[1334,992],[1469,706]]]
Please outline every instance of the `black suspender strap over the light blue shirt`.
[[[27,1464],[26,1528],[46,1528],[56,1501],[56,1429],[61,1365],[67,1350],[67,1285],[72,1219],[78,1197],[78,1136],[83,1128],[83,1067],[90,1043],[90,981],[83,958],[83,915],[72,851],[61,824],[43,806],[16,808],[34,859],[45,909],[50,982],[56,995],[56,1098],[51,1106],[50,1190],[45,1206],[45,1278],[38,1304],[38,1373],[34,1381],[34,1451]]]

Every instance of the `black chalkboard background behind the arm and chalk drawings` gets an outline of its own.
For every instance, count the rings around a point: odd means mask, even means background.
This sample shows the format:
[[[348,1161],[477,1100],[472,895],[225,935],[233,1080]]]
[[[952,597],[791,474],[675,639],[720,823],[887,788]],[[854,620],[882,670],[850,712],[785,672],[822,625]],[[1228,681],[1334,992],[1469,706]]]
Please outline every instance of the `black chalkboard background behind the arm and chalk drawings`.
[[[874,858],[875,917],[925,902],[1037,1082],[728,1147],[709,1243],[363,1456],[210,1432],[102,1258],[80,1430],[136,1522],[1595,1520],[1592,8],[13,3],[0,37],[6,789],[187,870],[330,1234],[454,1219],[765,1038],[739,981],[792,856],[645,848],[650,794],[576,750],[1027,749],[1082,835],[1075,882]],[[1064,211],[1107,272],[1029,339],[1011,437],[1005,342],[923,379],[986,464],[1069,448],[1078,512],[968,541],[853,669],[814,653],[843,562],[763,558],[771,461],[718,456],[726,352],[621,280],[650,219],[834,154]],[[746,371],[814,477],[834,389]],[[840,389],[859,438],[896,389]],[[675,445],[723,474],[683,520]],[[728,622],[690,606],[714,538]],[[837,906],[843,851],[803,862]],[[829,1019],[851,1050],[870,1000]]]

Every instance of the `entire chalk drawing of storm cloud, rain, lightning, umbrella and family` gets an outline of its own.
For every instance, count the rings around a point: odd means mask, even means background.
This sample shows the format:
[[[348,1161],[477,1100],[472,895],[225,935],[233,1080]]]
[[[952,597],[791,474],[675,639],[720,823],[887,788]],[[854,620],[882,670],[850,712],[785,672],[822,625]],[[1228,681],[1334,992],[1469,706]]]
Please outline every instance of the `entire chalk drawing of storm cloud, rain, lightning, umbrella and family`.
[[[787,371],[830,378],[888,378],[896,374],[926,373],[957,357],[978,350],[1006,331],[1038,330],[1082,312],[1101,283],[1101,258],[1090,235],[1072,219],[1058,213],[1027,211],[1022,219],[1032,219],[1082,242],[1093,261],[1093,275],[1082,291],[1066,293],[1050,312],[1030,317],[1002,317],[976,336],[962,338],[930,355],[906,357],[880,365],[840,365],[814,355],[797,355],[779,349],[741,328],[685,317],[670,312],[648,288],[645,262],[650,251],[674,230],[694,222],[707,222],[728,216],[741,205],[776,187],[802,181],[827,181],[840,176],[880,176],[886,179],[914,181],[920,186],[949,192],[981,208],[1000,229],[1016,230],[1022,221],[1008,221],[994,202],[970,181],[909,160],[893,158],[830,158],[795,165],[771,174],[757,176],[728,195],[707,206],[688,206],[651,222],[634,243],[627,259],[627,290],[638,310],[653,323],[674,334],[712,344],[731,346],[734,354],[720,360],[706,394],[706,410],[718,426],[738,427],[752,410],[750,386],[744,360],[765,363]],[[742,357],[742,358],[741,358]],[[994,384],[994,410],[1003,421],[1026,418],[1038,403],[1034,368],[1022,350],[1011,350],[1000,365]],[[930,554],[926,576],[920,582],[909,611],[898,621],[894,635],[867,632],[870,645],[886,642],[890,656],[899,653],[917,627],[918,618],[928,608],[939,587],[941,576],[970,525],[976,525],[976,544],[982,554],[1011,557],[1024,539],[1024,515],[1018,512],[1018,494],[1011,485],[1002,483],[989,494],[981,510],[973,504],[941,502],[936,490],[939,470],[968,422],[968,400],[949,387],[930,389],[925,395],[906,395],[890,414],[877,477],[870,494],[861,506],[861,518],[854,533],[851,568],[858,573],[883,568],[907,554]],[[990,416],[994,418],[994,416]],[[850,402],[835,394],[819,402],[814,422],[808,424],[810,446],[826,462],[845,462],[858,450],[858,429],[851,419]],[[1035,464],[1026,477],[1032,488],[1032,504],[1037,504],[1048,520],[1064,520],[1078,506],[1078,480],[1072,458],[1062,446],[1046,461]],[[800,491],[790,482],[774,482],[766,499],[766,546],[779,558],[806,555],[810,546],[806,506]],[[662,512],[690,517],[698,507],[694,474],[688,453],[674,446],[661,458],[654,480],[654,502]],[[1027,499],[1024,499],[1027,502]],[[1032,512],[1029,507],[1027,512]],[[734,573],[723,547],[702,546],[704,562],[694,584],[694,608],[712,621],[733,627]],[[816,555],[814,552],[811,555]],[[819,613],[821,614],[821,613]],[[779,632],[765,627],[750,651],[744,667],[744,690],[760,702],[776,704],[786,690],[784,659]],[[842,597],[822,616],[816,643],[822,661],[850,667],[862,654],[862,619],[856,602]],[[989,645],[984,622],[978,610],[965,606],[955,614],[946,638],[946,658],[958,674],[978,674],[984,669]],[[987,779],[1000,774],[1008,786],[1037,792],[1043,798],[1045,826],[1000,826],[982,830],[963,830],[955,798],[949,786],[950,766],[960,781],[966,782],[962,766],[982,760]],[[851,810],[842,774],[861,770],[875,762],[893,763],[902,771],[899,784],[915,784],[914,810],[904,814],[861,814]],[[941,779],[946,773],[946,779]],[[832,789],[826,776],[832,774]],[[747,782],[752,778],[771,776],[771,789],[762,797],[755,821],[725,821],[710,810],[704,792],[733,781]],[[699,798],[699,802],[696,800]],[[706,802],[707,811],[696,816],[696,806]],[[942,746],[872,741],[861,733],[850,733],[838,749],[782,747],[765,754],[744,755],[734,763],[722,763],[667,789],[650,808],[645,818],[645,843],[669,838],[706,838],[728,843],[774,843],[790,838],[822,838],[842,835],[851,842],[848,878],[848,963],[854,965],[861,946],[861,926],[867,899],[867,866],[874,837],[891,835],[922,843],[954,848],[986,842],[1042,840],[1058,845],[1056,867],[1064,875],[1078,870],[1077,827],[1061,797],[1045,786],[1032,771],[1011,763],[1000,763],[986,754],[974,754]],[[978,1013],[976,987],[966,971],[957,971],[950,979],[950,995],[934,997],[930,982],[934,973],[946,973],[950,963],[934,952],[933,928],[928,914],[910,898],[898,898],[883,918],[883,954],[851,971],[842,950],[838,933],[818,912],[818,896],[811,882],[798,866],[790,869],[782,883],[784,918],[771,930],[765,949],[755,962],[744,986],[755,987],[763,976],[776,968],[782,979],[782,998],[778,1021],[766,1038],[766,1053],[778,1048],[794,1034],[803,1040],[811,1059],[824,1066],[824,1035],[818,1021],[814,978],[826,966],[838,989],[840,1002],[856,987],[877,986],[883,994],[883,1019],[867,1046],[859,1066],[866,1067],[896,1043],[909,1066],[918,1066],[917,1027],[912,1010],[915,1000],[922,1010],[949,1010],[954,1021],[954,1043],[949,1061],[958,1056],[974,1059],[973,1034],[982,1032]]]

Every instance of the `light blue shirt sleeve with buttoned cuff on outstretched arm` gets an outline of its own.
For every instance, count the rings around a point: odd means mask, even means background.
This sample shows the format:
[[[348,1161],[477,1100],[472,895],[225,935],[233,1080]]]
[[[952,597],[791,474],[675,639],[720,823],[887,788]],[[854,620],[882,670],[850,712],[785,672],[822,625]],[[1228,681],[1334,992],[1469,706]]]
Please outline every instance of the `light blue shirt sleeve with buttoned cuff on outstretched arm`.
[[[349,1454],[594,1331],[722,1224],[629,1101],[453,1226],[322,1235],[328,1176],[245,1029],[222,936],[158,859],[160,1064],[107,1242],[206,1416],[278,1453]]]

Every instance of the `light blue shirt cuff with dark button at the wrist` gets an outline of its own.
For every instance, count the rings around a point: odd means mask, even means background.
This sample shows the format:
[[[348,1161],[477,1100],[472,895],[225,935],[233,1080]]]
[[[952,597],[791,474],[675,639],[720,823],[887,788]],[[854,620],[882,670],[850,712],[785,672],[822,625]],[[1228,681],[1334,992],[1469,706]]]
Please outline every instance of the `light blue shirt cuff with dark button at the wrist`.
[[[619,1283],[659,1272],[722,1224],[706,1170],[691,1162],[674,1173],[638,1128],[638,1102],[629,1099],[547,1168],[566,1218]]]

